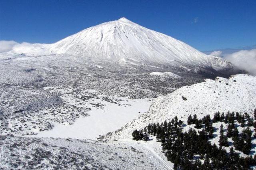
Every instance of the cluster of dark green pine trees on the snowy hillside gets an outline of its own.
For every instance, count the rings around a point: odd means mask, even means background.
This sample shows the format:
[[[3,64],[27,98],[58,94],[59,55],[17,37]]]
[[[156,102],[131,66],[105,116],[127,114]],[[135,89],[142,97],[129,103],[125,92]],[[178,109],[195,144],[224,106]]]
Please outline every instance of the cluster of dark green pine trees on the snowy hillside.
[[[256,120],[256,109],[254,111],[254,120]],[[235,121],[237,123],[235,124]],[[214,137],[213,123],[223,122],[228,124],[226,135],[224,135],[223,125],[220,127],[219,147],[211,144],[209,140]],[[237,125],[247,127],[239,134]],[[216,113],[211,119],[210,115],[197,119],[196,115],[188,117],[188,125],[195,124],[198,132],[190,128],[188,131],[182,131],[183,122],[177,117],[172,121],[164,123],[151,123],[144,129],[134,130],[134,140],[141,140],[144,136],[153,135],[162,143],[162,152],[167,159],[174,163],[174,169],[248,169],[256,165],[256,156],[240,157],[239,153],[234,151],[240,150],[245,154],[250,154],[252,132],[250,126],[254,126],[256,132],[256,121],[247,113],[227,113],[220,115]],[[242,125],[243,124],[243,125]],[[139,138],[136,135],[140,133]],[[256,134],[256,133],[254,133]],[[148,137],[147,137],[148,138]],[[230,147],[230,152],[222,146],[229,146],[228,138],[234,141],[234,148]],[[201,160],[204,160],[202,163]]]

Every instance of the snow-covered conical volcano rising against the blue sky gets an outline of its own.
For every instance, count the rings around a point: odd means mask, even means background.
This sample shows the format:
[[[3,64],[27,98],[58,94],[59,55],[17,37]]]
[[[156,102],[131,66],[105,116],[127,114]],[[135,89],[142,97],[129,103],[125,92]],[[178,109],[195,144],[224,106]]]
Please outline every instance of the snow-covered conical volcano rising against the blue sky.
[[[206,55],[184,42],[126,18],[82,30],[50,45],[50,51],[100,59],[211,67],[215,70],[232,67],[224,59]]]

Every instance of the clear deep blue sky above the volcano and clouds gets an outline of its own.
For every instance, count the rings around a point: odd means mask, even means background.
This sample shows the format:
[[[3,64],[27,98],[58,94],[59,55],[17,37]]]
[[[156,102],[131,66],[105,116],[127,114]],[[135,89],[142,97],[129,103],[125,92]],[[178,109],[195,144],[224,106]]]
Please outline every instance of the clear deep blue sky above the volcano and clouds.
[[[0,0],[0,40],[52,43],[121,17],[201,51],[256,44],[256,0]]]

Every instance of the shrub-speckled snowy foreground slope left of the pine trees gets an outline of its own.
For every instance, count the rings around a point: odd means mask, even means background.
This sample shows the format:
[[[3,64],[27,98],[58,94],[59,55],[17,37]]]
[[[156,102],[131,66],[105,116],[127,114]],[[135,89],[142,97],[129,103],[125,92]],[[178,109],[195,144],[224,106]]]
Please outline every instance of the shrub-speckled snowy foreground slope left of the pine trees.
[[[1,169],[170,169],[143,144],[0,136]],[[160,145],[160,144],[159,144]]]

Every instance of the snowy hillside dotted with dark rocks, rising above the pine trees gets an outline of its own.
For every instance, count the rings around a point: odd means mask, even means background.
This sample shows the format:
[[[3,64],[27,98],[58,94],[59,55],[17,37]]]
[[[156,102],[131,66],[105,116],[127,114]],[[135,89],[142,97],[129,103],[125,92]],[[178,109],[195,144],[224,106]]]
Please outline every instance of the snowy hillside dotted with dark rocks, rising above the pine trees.
[[[182,96],[187,100],[183,100]],[[255,96],[255,76],[234,75],[230,79],[206,79],[206,82],[184,86],[173,93],[154,99],[148,113],[139,115],[137,119],[107,138],[132,138],[133,130],[142,129],[148,123],[171,120],[175,116],[186,122],[190,114],[196,114],[200,119],[208,114],[213,118],[217,111],[252,113],[256,108]]]

